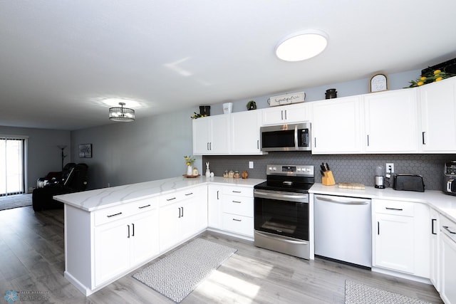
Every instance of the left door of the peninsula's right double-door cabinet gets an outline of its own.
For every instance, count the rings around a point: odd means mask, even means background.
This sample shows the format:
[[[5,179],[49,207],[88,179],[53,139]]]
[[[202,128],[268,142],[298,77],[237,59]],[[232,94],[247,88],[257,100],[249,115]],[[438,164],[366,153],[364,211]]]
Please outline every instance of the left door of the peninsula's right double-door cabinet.
[[[180,204],[160,206],[160,252],[175,246],[179,241],[177,221],[180,218]]]

